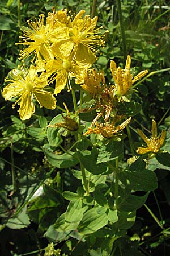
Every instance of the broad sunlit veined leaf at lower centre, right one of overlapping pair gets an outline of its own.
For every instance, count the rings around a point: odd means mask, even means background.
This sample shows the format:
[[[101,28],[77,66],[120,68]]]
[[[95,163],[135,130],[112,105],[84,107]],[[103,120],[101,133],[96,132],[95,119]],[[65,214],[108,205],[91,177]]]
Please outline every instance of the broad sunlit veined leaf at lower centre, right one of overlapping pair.
[[[108,223],[107,214],[105,213],[106,210],[106,207],[94,207],[87,210],[87,212],[84,213],[82,221],[80,221],[78,231],[82,234],[92,234],[103,228],[103,226]]]

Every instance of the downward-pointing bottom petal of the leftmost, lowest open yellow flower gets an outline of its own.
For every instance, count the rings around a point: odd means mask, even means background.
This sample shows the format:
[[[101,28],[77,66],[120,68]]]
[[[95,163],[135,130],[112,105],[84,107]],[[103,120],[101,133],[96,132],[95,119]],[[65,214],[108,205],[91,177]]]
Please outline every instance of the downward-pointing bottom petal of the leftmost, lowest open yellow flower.
[[[20,102],[19,115],[20,119],[27,120],[35,112],[35,105],[32,102],[31,94],[24,93]]]

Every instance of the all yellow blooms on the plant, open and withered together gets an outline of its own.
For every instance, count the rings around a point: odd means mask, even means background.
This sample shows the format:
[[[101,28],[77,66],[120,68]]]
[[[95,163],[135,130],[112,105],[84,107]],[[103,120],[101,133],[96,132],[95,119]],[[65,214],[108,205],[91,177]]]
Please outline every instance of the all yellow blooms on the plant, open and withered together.
[[[130,117],[122,122],[122,119],[127,117],[118,114],[117,104],[130,101],[134,82],[145,76],[148,71],[142,71],[133,78],[130,55],[127,57],[125,69],[117,68],[116,63],[111,60],[114,84],[106,85],[103,72],[97,72],[95,68],[90,69],[97,59],[97,47],[104,47],[104,36],[101,35],[101,27],[96,28],[97,16],[92,19],[84,14],[84,10],[75,15],[67,9],[53,10],[53,13],[48,13],[46,20],[45,15],[41,14],[35,22],[28,21],[28,27],[24,28],[18,43],[25,47],[20,51],[19,58],[23,65],[9,73],[5,80],[8,85],[2,94],[5,100],[17,97],[12,107],[20,105],[19,115],[25,120],[35,113],[35,100],[41,107],[55,109],[54,95],[60,93],[65,86],[70,91],[71,80],[74,78],[75,83],[81,85],[80,89],[83,88],[95,101],[88,110],[96,109],[98,113],[84,135],[95,133],[112,138],[121,134],[131,120]],[[25,59],[31,63],[29,68],[25,68]],[[54,81],[53,89],[49,84]],[[66,127],[75,131],[78,129],[78,123],[70,118],[66,105],[65,108],[67,117],[63,116],[64,122],[56,124],[55,127]],[[97,122],[101,117],[104,123]],[[141,130],[138,131],[148,146],[144,149],[138,148],[139,154],[150,151],[157,153],[163,146],[165,131],[158,137],[154,131],[155,127],[156,123],[152,121],[151,139],[145,137]]]

